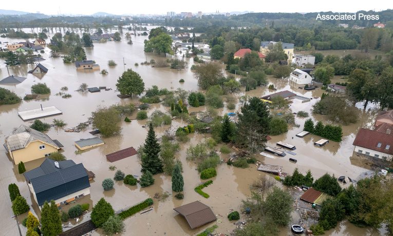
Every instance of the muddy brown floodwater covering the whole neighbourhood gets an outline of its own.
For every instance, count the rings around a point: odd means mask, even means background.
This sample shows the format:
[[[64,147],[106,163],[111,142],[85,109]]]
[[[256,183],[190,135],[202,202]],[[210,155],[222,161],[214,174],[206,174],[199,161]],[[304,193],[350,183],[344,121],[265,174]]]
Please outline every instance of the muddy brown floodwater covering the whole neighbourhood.
[[[4,86],[2,87],[10,89],[23,97],[25,94],[31,93],[30,87],[35,83],[46,83],[51,89],[51,95],[46,100],[40,101],[29,101],[22,102],[15,105],[3,105],[0,106],[0,135],[2,139],[11,134],[13,128],[16,128],[22,124],[30,125],[31,122],[23,122],[18,116],[18,111],[24,111],[42,106],[56,106],[60,109],[63,114],[59,116],[47,117],[41,119],[43,122],[52,123],[53,119],[62,119],[68,125],[67,127],[74,127],[80,122],[87,121],[91,112],[96,110],[98,106],[109,106],[112,104],[127,104],[138,102],[137,99],[119,99],[116,96],[116,81],[117,78],[127,68],[131,68],[138,72],[144,83],[145,87],[151,87],[157,85],[159,88],[176,89],[182,88],[185,90],[198,90],[197,81],[190,70],[193,65],[192,58],[185,58],[185,61],[189,63],[188,69],[185,70],[174,70],[170,68],[152,68],[151,65],[139,65],[135,66],[135,63],[140,64],[144,61],[150,61],[154,59],[156,62],[159,60],[165,60],[161,55],[155,55],[151,53],[143,52],[143,41],[147,39],[146,36],[133,36],[133,45],[128,45],[126,40],[123,38],[122,42],[107,42],[103,44],[95,43],[94,48],[87,48],[86,54],[88,60],[95,60],[100,65],[101,69],[108,70],[107,75],[101,75],[99,71],[77,71],[73,64],[63,64],[62,58],[49,58],[49,49],[45,49],[43,57],[46,61],[41,62],[45,67],[49,69],[48,73],[43,75],[41,78],[36,77],[32,74],[27,74],[27,71],[33,68],[33,65],[16,66],[9,69],[10,74],[17,76],[24,76],[27,79],[15,86]],[[2,38],[2,41],[8,42],[20,42],[23,40],[15,40],[10,38]],[[31,40],[32,41],[32,40]],[[181,54],[177,54],[181,56]],[[108,67],[107,61],[114,60],[118,65],[116,67]],[[124,64],[123,65],[123,60]],[[3,61],[0,61],[3,62]],[[8,76],[7,69],[4,64],[0,66],[0,78]],[[179,83],[180,78],[184,79],[184,83]],[[287,80],[276,80],[275,78],[269,77],[270,83],[274,84],[278,90],[290,90],[298,94],[303,94],[306,97],[319,97],[322,94],[321,90],[305,91],[297,89],[296,86],[291,86]],[[113,88],[110,91],[101,91],[98,93],[81,93],[76,92],[79,85],[86,83],[89,87],[106,86]],[[61,96],[56,96],[55,93],[60,92],[60,88],[63,86],[68,87],[67,93],[71,94],[72,97],[69,99],[62,99]],[[235,95],[237,97],[242,95],[250,96],[261,96],[264,94],[273,93],[269,91],[267,87],[260,87],[256,90],[249,92],[238,92]],[[292,112],[300,110],[310,112],[312,105],[317,101],[313,99],[307,103],[301,103],[300,101],[294,101],[290,108]],[[241,105],[236,105],[236,110]],[[149,113],[155,109],[162,111],[168,111],[169,108],[162,105],[156,104],[149,109]],[[205,107],[192,108],[191,111],[205,110]],[[222,115],[229,110],[227,108],[218,109]],[[233,111],[233,110],[231,110]],[[352,179],[357,179],[359,175],[367,170],[367,166],[362,166],[359,162],[351,162],[350,157],[353,154],[352,142],[354,140],[355,133],[359,127],[370,127],[373,123],[373,117],[376,114],[376,108],[366,109],[365,112],[359,111],[359,122],[348,126],[343,126],[343,141],[341,143],[330,142],[322,148],[314,147],[313,142],[319,139],[315,135],[307,135],[304,139],[295,136],[296,133],[302,131],[304,121],[306,119],[296,118],[296,123],[300,127],[290,127],[288,133],[272,136],[272,140],[269,141],[268,145],[275,145],[275,142],[284,141],[293,145],[296,145],[296,153],[294,156],[297,159],[296,164],[289,163],[288,158],[291,157],[287,154],[284,158],[275,158],[270,155],[259,155],[256,154],[256,158],[263,161],[266,164],[282,165],[285,172],[291,173],[295,167],[299,168],[302,172],[306,172],[311,169],[314,178],[319,178],[326,172],[335,174],[336,176],[347,175]],[[324,117],[320,115],[313,115],[314,119],[324,120]],[[131,117],[135,118],[135,114]],[[133,206],[146,198],[153,198],[155,193],[169,192],[171,195],[163,200],[158,201],[154,199],[154,210],[144,214],[135,214],[133,217],[125,220],[126,232],[124,235],[195,235],[202,231],[205,227],[217,224],[219,227],[216,232],[229,233],[235,226],[228,221],[227,214],[234,210],[240,210],[241,200],[246,199],[250,195],[249,185],[258,178],[260,175],[265,173],[256,171],[253,165],[250,168],[239,169],[226,164],[222,164],[218,167],[217,176],[213,178],[213,184],[204,188],[203,191],[210,194],[209,199],[204,199],[202,196],[194,191],[194,188],[201,183],[198,172],[196,171],[196,164],[191,161],[185,160],[185,150],[191,144],[197,144],[204,142],[205,137],[208,135],[203,134],[192,134],[190,135],[191,141],[181,145],[181,150],[177,153],[176,157],[179,158],[183,164],[183,176],[184,176],[184,199],[177,200],[174,198],[171,189],[171,178],[164,174],[155,175],[155,184],[150,187],[141,188],[138,186],[124,185],[122,182],[116,182],[115,188],[110,191],[104,191],[101,182],[106,178],[113,178],[115,171],[110,171],[108,167],[115,165],[117,169],[121,169],[126,174],[140,175],[140,164],[137,156],[132,156],[115,163],[109,163],[106,161],[105,155],[111,152],[118,151],[123,148],[133,146],[139,147],[145,139],[147,130],[142,128],[146,121],[133,120],[132,123],[127,124],[122,122],[122,133],[119,136],[104,138],[105,145],[84,151],[80,155],[74,153],[76,147],[74,141],[79,139],[86,139],[91,137],[88,131],[91,131],[89,127],[86,131],[80,133],[67,133],[63,129],[51,128],[48,131],[48,135],[52,139],[59,140],[64,145],[64,152],[67,159],[72,159],[76,163],[83,163],[85,168],[91,170],[96,174],[96,178],[92,181],[90,187],[90,196],[86,196],[83,201],[89,202],[90,204],[97,203],[102,197],[104,197],[115,209],[119,211]],[[182,126],[184,123],[180,120],[174,120],[172,123],[172,129],[174,127]],[[157,136],[163,134],[170,126],[159,127],[156,129]],[[270,156],[270,157],[269,157]],[[3,232],[7,232],[7,235],[18,235],[16,222],[11,218],[11,202],[9,201],[7,186],[10,183],[16,183],[21,190],[21,194],[27,198],[28,204],[32,205],[32,210],[35,214],[39,215],[39,210],[36,204],[32,203],[32,196],[27,188],[27,184],[22,174],[18,174],[17,166],[14,166],[3,149],[0,152],[0,158],[2,160],[2,166],[0,167],[0,189],[3,204],[0,206],[0,211],[3,212],[1,215],[0,226]],[[221,155],[222,159],[226,158],[226,155]],[[43,159],[26,163],[26,169],[31,170],[42,163]],[[358,163],[358,164],[357,164]],[[211,223],[204,227],[200,227],[191,230],[186,221],[178,215],[173,208],[187,204],[193,201],[199,200],[208,206],[210,206],[213,212],[217,215],[217,219],[220,219],[221,223]],[[26,214],[18,217],[22,221],[26,217]],[[87,220],[88,216],[83,220]],[[82,221],[83,221],[82,220]],[[294,219],[295,220],[295,219]],[[71,222],[73,223],[73,222]],[[22,233],[26,232],[26,228],[20,226]],[[94,234],[100,234],[98,230]],[[289,228],[282,229],[281,235],[290,234]],[[334,230],[331,230],[327,235],[379,235],[386,234],[385,231],[369,229],[369,228],[358,228],[347,222],[341,223]]]

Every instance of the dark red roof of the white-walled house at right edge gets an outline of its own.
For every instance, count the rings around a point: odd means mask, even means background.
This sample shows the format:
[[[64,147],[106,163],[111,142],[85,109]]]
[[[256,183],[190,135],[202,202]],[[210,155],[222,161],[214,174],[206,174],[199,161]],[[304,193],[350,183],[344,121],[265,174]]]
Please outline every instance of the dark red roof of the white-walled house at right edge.
[[[381,147],[378,144],[381,143]],[[393,132],[391,134],[360,128],[353,145],[393,155]],[[386,145],[390,148],[386,149]]]

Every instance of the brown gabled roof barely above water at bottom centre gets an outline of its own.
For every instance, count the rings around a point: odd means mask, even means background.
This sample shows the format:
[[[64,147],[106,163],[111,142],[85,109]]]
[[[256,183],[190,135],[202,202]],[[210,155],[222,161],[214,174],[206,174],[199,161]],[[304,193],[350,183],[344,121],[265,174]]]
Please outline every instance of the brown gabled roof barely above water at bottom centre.
[[[185,204],[173,209],[183,215],[191,229],[208,224],[217,219],[210,207],[199,201]]]

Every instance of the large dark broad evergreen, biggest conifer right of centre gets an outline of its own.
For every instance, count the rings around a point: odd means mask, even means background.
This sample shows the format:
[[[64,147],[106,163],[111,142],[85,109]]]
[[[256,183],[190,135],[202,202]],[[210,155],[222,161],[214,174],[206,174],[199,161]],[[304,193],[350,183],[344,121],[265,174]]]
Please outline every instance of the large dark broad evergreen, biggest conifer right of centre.
[[[258,97],[252,97],[237,116],[236,142],[251,152],[264,150],[271,120],[266,104]]]

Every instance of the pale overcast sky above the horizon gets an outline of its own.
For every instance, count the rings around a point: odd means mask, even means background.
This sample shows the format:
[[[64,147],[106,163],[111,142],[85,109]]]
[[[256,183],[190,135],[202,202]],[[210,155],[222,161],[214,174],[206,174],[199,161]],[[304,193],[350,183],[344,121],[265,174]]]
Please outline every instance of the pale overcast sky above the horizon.
[[[9,4],[7,4],[9,3]],[[107,12],[111,14],[166,14],[168,11],[180,12],[233,12],[233,11],[251,11],[251,12],[356,12],[358,10],[385,10],[383,4],[376,4],[374,1],[363,1],[352,3],[344,0],[329,0],[318,2],[315,0],[302,1],[225,1],[225,0],[196,0],[196,1],[46,1],[32,2],[31,0],[20,0],[17,4],[4,2],[0,9],[18,10],[27,12],[41,12],[44,14],[93,14],[95,12]],[[323,4],[322,4],[323,3]],[[378,8],[375,8],[375,7]]]

